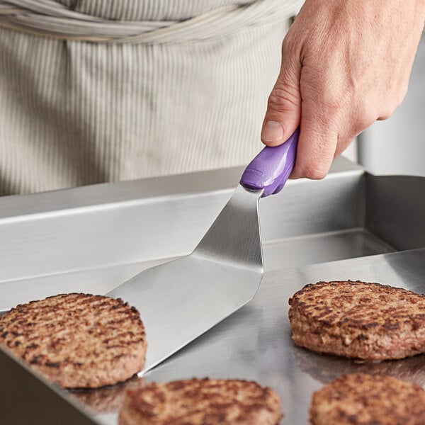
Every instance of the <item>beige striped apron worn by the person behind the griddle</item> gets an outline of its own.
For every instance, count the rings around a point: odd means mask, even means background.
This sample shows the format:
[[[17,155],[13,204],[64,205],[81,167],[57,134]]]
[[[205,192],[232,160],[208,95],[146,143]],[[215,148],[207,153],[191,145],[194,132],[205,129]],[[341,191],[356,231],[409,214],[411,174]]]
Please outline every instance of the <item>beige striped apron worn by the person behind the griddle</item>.
[[[0,0],[0,193],[246,164],[297,0]]]

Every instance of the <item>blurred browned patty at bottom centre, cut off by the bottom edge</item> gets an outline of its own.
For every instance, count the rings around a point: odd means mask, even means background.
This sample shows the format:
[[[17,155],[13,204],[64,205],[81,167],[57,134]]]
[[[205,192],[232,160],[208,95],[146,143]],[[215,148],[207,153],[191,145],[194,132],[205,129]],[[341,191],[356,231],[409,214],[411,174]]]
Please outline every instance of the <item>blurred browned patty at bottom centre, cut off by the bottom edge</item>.
[[[191,379],[128,391],[120,425],[277,425],[279,396],[244,380]]]

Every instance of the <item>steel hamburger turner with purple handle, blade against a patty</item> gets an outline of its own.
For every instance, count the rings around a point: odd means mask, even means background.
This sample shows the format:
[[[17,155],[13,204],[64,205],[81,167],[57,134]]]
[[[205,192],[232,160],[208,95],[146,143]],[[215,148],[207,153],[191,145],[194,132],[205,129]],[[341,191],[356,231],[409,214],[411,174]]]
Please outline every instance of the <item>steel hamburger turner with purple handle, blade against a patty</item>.
[[[254,298],[263,278],[259,199],[278,193],[295,163],[299,130],[265,147],[192,254],[148,268],[111,290],[147,330],[142,375]]]

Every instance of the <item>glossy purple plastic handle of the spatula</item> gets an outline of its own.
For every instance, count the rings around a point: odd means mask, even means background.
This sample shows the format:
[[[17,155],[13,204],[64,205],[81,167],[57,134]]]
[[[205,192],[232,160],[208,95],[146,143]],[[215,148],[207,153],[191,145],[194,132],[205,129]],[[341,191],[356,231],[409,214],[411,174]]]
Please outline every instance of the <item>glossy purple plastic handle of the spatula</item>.
[[[278,193],[293,171],[300,128],[283,145],[265,147],[246,167],[240,183],[249,189],[264,189],[263,197]]]

